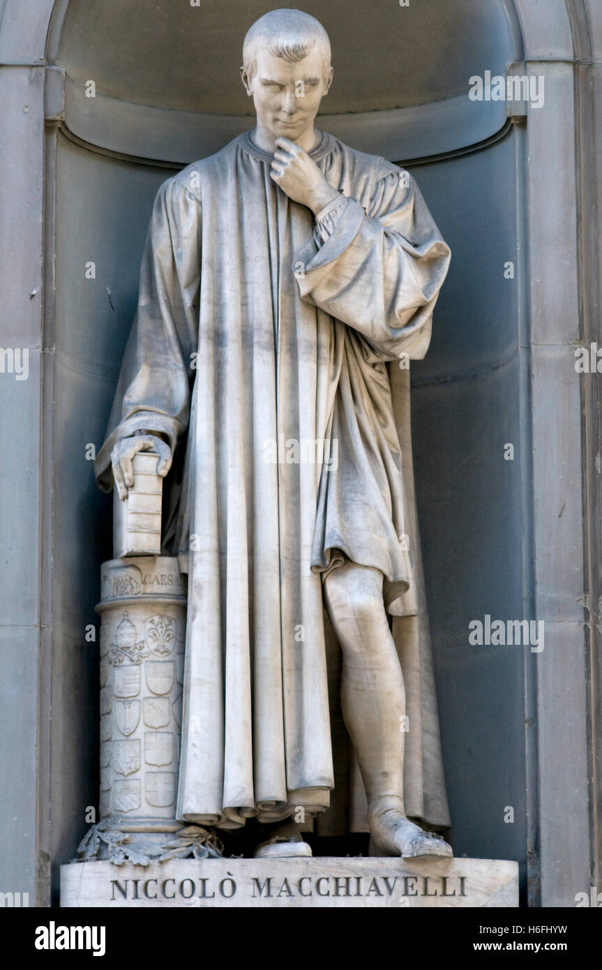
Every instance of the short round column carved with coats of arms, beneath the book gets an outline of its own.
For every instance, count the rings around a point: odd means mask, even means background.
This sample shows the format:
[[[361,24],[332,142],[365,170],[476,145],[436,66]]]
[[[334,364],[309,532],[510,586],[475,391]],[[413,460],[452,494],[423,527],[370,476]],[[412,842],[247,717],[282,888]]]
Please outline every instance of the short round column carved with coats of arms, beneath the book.
[[[175,820],[186,638],[186,579],[177,559],[102,566],[100,823],[82,860],[148,864],[219,855],[206,829]]]

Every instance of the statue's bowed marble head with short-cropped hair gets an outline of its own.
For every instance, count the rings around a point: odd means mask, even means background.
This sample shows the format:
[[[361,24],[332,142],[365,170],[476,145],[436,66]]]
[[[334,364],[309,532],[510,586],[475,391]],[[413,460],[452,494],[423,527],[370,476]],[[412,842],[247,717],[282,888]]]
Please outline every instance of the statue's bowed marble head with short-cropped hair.
[[[299,142],[313,131],[333,81],[331,42],[322,24],[300,10],[272,10],[244,38],[242,82],[259,128]]]

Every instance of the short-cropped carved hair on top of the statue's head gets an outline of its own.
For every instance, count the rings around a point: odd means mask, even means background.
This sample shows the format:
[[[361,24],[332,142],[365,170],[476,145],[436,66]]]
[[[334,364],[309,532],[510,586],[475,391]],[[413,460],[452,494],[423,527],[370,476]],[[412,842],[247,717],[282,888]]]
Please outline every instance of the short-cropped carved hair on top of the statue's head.
[[[331,67],[329,35],[315,16],[295,8],[270,10],[249,27],[242,45],[242,64],[249,81],[257,72],[257,49],[266,47],[274,57],[296,63],[315,46],[324,56],[325,77]]]

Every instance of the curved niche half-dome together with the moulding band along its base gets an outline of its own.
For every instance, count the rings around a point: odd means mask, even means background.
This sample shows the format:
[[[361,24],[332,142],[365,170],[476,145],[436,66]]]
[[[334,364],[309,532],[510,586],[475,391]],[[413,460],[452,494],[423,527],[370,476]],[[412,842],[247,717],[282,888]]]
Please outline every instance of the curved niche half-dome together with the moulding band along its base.
[[[471,76],[505,74],[517,55],[507,3],[306,0],[302,8],[333,44],[334,83],[319,124],[404,161],[487,141],[504,126],[504,106],[470,102],[467,91]],[[66,127],[82,142],[166,163],[218,150],[253,123],[238,75],[242,39],[275,6],[70,0],[56,49]],[[88,81],[95,98],[85,97]]]

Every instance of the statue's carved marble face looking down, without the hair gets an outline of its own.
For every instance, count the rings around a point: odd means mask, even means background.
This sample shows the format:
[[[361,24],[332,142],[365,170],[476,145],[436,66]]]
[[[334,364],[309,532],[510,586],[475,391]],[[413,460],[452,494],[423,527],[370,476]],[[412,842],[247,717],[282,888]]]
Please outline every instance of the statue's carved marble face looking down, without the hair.
[[[320,102],[333,81],[333,68],[325,78],[319,49],[310,50],[297,63],[259,49],[254,77],[249,81],[244,69],[241,74],[247,94],[253,98],[258,126],[267,128],[274,138],[284,136],[292,142],[313,128]]]

